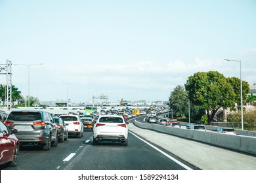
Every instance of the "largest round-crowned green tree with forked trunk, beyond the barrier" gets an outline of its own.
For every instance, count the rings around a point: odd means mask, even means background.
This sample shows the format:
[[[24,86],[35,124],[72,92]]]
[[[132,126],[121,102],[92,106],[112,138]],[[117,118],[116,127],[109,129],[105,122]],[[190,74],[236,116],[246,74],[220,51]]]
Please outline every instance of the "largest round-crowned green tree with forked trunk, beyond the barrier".
[[[188,78],[185,88],[190,102],[206,110],[208,124],[219,108],[234,108],[236,95],[232,85],[217,71],[195,73]]]

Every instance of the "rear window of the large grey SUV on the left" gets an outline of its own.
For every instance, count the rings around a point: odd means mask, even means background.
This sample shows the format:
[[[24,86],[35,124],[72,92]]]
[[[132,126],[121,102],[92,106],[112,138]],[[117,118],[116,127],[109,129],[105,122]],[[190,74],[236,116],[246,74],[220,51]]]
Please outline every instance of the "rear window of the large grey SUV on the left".
[[[41,113],[39,112],[11,112],[8,118],[8,120],[21,121],[21,122],[35,121],[35,120],[41,120],[41,119],[42,119]]]

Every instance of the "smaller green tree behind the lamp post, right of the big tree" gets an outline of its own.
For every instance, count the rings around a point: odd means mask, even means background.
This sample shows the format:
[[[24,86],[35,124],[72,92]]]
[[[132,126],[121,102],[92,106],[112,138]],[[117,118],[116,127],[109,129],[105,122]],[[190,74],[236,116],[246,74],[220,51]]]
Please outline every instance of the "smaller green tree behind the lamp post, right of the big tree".
[[[234,93],[236,94],[235,100],[238,106],[241,106],[241,88],[240,88],[240,78],[232,77],[227,78],[227,81],[231,84]],[[242,80],[242,95],[243,95],[243,104],[247,99],[247,94],[249,93],[249,84],[248,82]]]

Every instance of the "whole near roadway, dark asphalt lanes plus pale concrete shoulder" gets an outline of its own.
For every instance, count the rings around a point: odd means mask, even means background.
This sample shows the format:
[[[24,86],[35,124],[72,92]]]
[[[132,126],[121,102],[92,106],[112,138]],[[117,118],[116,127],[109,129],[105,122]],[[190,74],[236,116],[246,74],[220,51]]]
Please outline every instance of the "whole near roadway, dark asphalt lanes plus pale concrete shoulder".
[[[143,116],[136,120],[142,121]],[[256,157],[136,127],[129,121],[129,143],[93,146],[92,131],[70,137],[49,152],[22,147],[16,167],[5,170],[231,170],[256,169]]]

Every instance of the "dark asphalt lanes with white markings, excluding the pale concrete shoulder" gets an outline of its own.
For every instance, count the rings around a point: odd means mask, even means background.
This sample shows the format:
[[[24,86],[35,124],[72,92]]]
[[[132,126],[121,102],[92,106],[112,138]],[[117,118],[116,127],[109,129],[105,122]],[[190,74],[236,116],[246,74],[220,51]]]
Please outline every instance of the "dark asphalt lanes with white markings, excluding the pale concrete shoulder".
[[[130,124],[133,125],[133,124]],[[22,147],[16,167],[8,170],[184,170],[196,169],[173,161],[156,148],[129,133],[128,146],[103,142],[93,146],[92,131],[85,131],[81,139],[70,137],[59,142],[49,152],[38,147]],[[189,167],[190,166],[190,167]]]

